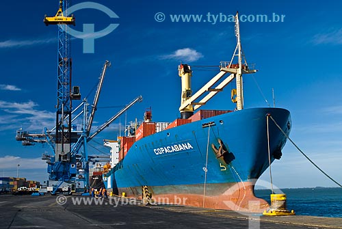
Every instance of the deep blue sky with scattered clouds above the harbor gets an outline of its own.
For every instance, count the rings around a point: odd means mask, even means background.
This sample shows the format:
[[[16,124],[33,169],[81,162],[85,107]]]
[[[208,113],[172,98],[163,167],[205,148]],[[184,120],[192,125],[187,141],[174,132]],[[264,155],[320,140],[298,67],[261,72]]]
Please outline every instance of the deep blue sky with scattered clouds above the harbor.
[[[73,1],[73,5],[83,1]],[[172,122],[179,116],[180,62],[194,66],[218,65],[229,61],[235,49],[234,24],[217,21],[172,22],[170,15],[231,15],[275,13],[283,22],[241,23],[241,40],[249,63],[259,70],[244,77],[245,108],[272,104],[291,111],[293,139],[330,176],[342,182],[342,20],[338,1],[94,1],[114,11],[109,18],[97,10],[74,12],[76,27],[94,23],[95,31],[109,23],[120,24],[107,36],[94,42],[94,53],[83,53],[81,39],[73,38],[73,85],[81,87],[82,98],[92,91],[106,59],[111,61],[98,103],[93,130],[103,124],[140,94],[144,101],[127,112],[127,120],[142,119],[152,107],[153,120]],[[47,145],[21,146],[15,141],[19,128],[41,133],[55,124],[57,102],[57,27],[46,27],[44,14],[53,16],[58,1],[8,1],[1,21],[0,58],[0,176],[20,174],[31,180],[47,178],[46,164],[40,159],[50,152]],[[155,20],[162,12],[163,22]],[[199,89],[215,71],[194,68],[193,89]],[[257,81],[257,84],[255,83]],[[261,88],[262,94],[258,88]],[[231,86],[213,98],[203,109],[233,109]],[[88,98],[90,103],[93,94]],[[112,108],[101,108],[110,107]],[[124,123],[124,116],[120,118]],[[119,120],[94,141],[90,154],[108,154],[103,139],[116,139]],[[280,161],[272,164],[278,187],[336,186],[320,174],[287,143]],[[268,171],[261,176],[269,180]]]

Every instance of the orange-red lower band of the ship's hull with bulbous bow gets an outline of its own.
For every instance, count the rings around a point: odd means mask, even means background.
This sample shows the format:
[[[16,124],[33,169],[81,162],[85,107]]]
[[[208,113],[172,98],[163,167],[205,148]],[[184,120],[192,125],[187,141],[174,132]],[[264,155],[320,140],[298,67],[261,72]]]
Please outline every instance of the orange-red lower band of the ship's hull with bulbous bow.
[[[223,185],[225,188],[223,188]],[[170,187],[119,188],[120,194],[143,200],[144,203],[179,204],[213,209],[263,213],[269,204],[254,196],[254,183],[181,185]],[[174,190],[178,187],[177,191]]]

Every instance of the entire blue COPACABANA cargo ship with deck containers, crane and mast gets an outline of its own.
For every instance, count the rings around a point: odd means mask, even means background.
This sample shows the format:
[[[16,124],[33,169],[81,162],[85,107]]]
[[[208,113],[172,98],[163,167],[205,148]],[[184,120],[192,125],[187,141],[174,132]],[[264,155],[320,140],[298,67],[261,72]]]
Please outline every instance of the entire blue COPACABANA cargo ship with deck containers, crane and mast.
[[[129,128],[130,135],[105,142],[111,147],[111,167],[103,174],[109,191],[146,204],[249,212],[269,208],[265,200],[254,196],[254,185],[272,161],[282,156],[287,139],[276,124],[289,135],[291,116],[281,108],[244,109],[242,75],[257,70],[248,66],[242,54],[238,14],[235,36],[231,62],[221,62],[218,75],[198,92],[192,92],[191,66],[179,65],[181,118],[152,122],[149,110],[140,126]],[[233,80],[236,88],[231,100],[236,109],[198,109]],[[268,122],[269,117],[274,122]]]

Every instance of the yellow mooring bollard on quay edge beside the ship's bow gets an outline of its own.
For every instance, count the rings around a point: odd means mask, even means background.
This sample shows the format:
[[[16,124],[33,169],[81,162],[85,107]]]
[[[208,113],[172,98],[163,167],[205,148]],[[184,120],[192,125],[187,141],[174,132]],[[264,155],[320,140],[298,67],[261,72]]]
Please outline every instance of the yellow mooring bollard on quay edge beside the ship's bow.
[[[287,210],[285,193],[271,194],[271,206],[267,211],[263,212],[263,215],[295,215],[295,211]]]

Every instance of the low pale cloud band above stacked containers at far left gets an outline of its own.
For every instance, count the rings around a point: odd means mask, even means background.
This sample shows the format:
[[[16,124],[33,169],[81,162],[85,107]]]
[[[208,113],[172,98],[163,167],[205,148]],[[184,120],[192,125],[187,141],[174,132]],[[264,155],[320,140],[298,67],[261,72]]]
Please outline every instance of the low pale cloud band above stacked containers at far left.
[[[19,170],[37,170],[47,168],[47,163],[43,161],[40,157],[32,159],[14,156],[0,157],[0,167],[3,170],[17,168],[18,164],[20,165]]]

